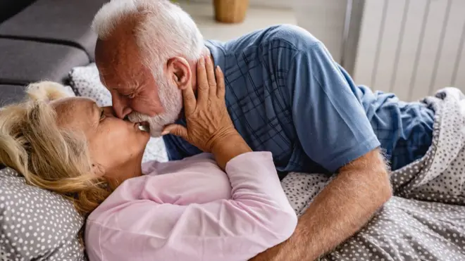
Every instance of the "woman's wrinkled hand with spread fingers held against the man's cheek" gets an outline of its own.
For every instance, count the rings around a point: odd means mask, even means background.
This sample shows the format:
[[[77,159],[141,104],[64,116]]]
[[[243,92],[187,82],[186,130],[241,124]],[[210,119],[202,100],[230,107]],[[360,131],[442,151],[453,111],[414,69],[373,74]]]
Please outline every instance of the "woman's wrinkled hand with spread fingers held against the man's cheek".
[[[215,79],[216,75],[216,79]],[[187,128],[181,125],[168,125],[163,134],[181,136],[190,144],[204,152],[212,152],[213,147],[225,142],[238,133],[230,119],[225,104],[225,82],[221,69],[213,71],[210,58],[200,58],[197,63],[197,98],[192,87],[182,90]]]

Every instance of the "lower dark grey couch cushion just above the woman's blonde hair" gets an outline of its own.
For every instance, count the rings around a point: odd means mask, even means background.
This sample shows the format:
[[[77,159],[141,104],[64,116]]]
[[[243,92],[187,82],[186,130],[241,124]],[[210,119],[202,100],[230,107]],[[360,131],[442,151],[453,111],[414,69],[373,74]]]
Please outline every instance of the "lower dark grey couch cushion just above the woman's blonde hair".
[[[71,68],[89,63],[85,51],[72,46],[0,39],[0,84],[63,82]]]

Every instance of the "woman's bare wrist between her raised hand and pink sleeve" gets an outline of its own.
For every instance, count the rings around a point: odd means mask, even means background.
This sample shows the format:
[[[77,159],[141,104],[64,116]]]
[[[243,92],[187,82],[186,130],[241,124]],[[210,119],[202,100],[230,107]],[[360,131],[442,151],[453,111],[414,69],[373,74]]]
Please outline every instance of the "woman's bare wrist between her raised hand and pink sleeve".
[[[243,153],[251,152],[252,148],[247,145],[238,132],[223,136],[212,145],[211,153],[216,163],[225,170],[226,164],[233,158]]]

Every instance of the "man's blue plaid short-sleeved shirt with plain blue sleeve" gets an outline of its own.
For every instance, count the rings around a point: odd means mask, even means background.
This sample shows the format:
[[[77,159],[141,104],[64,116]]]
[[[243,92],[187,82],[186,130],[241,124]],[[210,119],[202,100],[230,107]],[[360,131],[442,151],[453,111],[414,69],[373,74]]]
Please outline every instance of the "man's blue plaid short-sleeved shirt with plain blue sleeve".
[[[392,160],[399,132],[410,138],[395,96],[357,87],[325,46],[299,27],[205,44],[225,74],[226,106],[237,131],[254,151],[271,151],[280,171],[334,172],[378,146]],[[390,106],[383,110],[385,103]],[[416,106],[423,112],[421,103]],[[427,148],[430,134],[422,135],[416,140]],[[163,139],[170,160],[201,153],[178,136]]]

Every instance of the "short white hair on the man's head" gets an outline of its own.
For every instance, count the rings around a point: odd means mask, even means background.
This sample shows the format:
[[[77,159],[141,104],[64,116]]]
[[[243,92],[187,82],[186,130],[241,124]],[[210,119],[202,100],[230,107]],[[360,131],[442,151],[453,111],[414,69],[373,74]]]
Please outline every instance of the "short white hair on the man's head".
[[[203,37],[194,20],[168,0],[111,0],[97,12],[92,28],[99,39],[106,39],[128,18],[138,19],[135,40],[151,70],[175,56],[197,61],[202,55]]]

